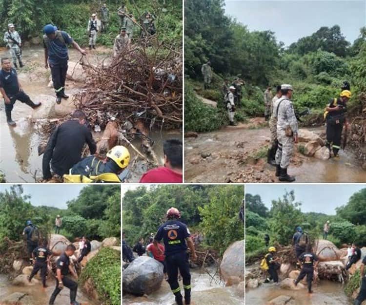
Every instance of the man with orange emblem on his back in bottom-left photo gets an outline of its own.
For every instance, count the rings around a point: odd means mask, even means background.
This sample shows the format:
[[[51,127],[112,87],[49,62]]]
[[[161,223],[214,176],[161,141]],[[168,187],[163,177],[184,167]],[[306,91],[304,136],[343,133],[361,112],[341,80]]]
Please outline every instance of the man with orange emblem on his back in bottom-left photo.
[[[30,283],[33,277],[41,270],[41,279],[43,288],[46,288],[46,274],[47,274],[47,264],[50,261],[52,252],[47,248],[47,240],[43,240],[42,246],[35,248],[32,252],[32,263],[33,270],[28,277],[28,282]]]

